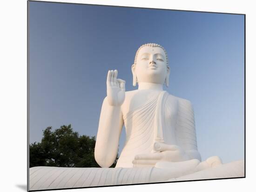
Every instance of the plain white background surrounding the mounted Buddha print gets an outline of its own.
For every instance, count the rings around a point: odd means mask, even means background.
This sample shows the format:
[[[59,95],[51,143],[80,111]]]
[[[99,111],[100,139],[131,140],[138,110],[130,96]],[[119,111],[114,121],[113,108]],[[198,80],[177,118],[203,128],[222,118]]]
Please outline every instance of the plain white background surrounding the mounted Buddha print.
[[[256,25],[255,6],[251,0],[69,0],[62,2],[88,3],[115,6],[140,6],[192,11],[212,11],[246,14],[246,179],[224,179],[200,182],[182,182],[139,186],[76,189],[75,192],[130,192],[131,190],[162,190],[241,192],[254,185],[256,122]],[[156,3],[158,5],[156,5]],[[161,6],[160,6],[161,5]],[[2,191],[24,192],[27,183],[27,0],[0,2],[0,115],[1,117],[1,175]],[[15,69],[15,70],[14,70]],[[13,110],[15,109],[15,110]],[[13,129],[12,129],[13,128]],[[13,130],[13,131],[10,131]],[[12,141],[10,138],[12,137]],[[15,152],[15,153],[12,153]],[[68,192],[70,190],[58,190]]]

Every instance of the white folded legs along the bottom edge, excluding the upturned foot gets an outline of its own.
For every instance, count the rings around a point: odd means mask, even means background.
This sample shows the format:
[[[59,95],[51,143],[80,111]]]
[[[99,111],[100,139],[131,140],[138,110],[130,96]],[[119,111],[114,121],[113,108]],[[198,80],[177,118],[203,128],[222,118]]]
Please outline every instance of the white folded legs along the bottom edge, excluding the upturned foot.
[[[71,168],[37,166],[29,169],[29,190],[113,186],[164,181],[244,177],[244,160],[234,161],[175,178],[157,167]]]

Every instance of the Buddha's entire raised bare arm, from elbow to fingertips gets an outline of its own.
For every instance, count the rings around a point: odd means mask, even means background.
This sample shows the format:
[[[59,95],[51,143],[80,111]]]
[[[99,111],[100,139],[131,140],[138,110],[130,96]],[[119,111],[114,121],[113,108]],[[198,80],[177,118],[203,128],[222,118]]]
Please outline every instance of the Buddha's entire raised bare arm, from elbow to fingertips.
[[[111,166],[116,158],[123,126],[121,105],[125,99],[125,81],[117,79],[117,70],[109,70],[107,97],[104,99],[94,150],[94,157],[101,167]]]

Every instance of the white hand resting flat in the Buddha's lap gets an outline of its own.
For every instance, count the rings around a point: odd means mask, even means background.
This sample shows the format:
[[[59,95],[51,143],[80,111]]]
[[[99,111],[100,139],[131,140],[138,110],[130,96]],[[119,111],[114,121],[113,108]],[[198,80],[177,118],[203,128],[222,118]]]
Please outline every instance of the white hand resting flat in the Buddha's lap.
[[[133,160],[134,167],[155,166],[159,161],[185,161],[189,156],[177,145],[168,145],[166,143],[156,142],[154,144],[155,153],[138,154]]]

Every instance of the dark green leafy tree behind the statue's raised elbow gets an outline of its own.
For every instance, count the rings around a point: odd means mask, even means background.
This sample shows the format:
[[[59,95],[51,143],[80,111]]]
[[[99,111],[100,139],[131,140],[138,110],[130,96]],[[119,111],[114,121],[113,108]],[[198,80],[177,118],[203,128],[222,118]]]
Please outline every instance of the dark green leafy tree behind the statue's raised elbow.
[[[41,142],[29,145],[29,167],[100,167],[94,159],[95,136],[79,135],[71,125],[43,130]],[[118,160],[118,154],[114,164]]]

